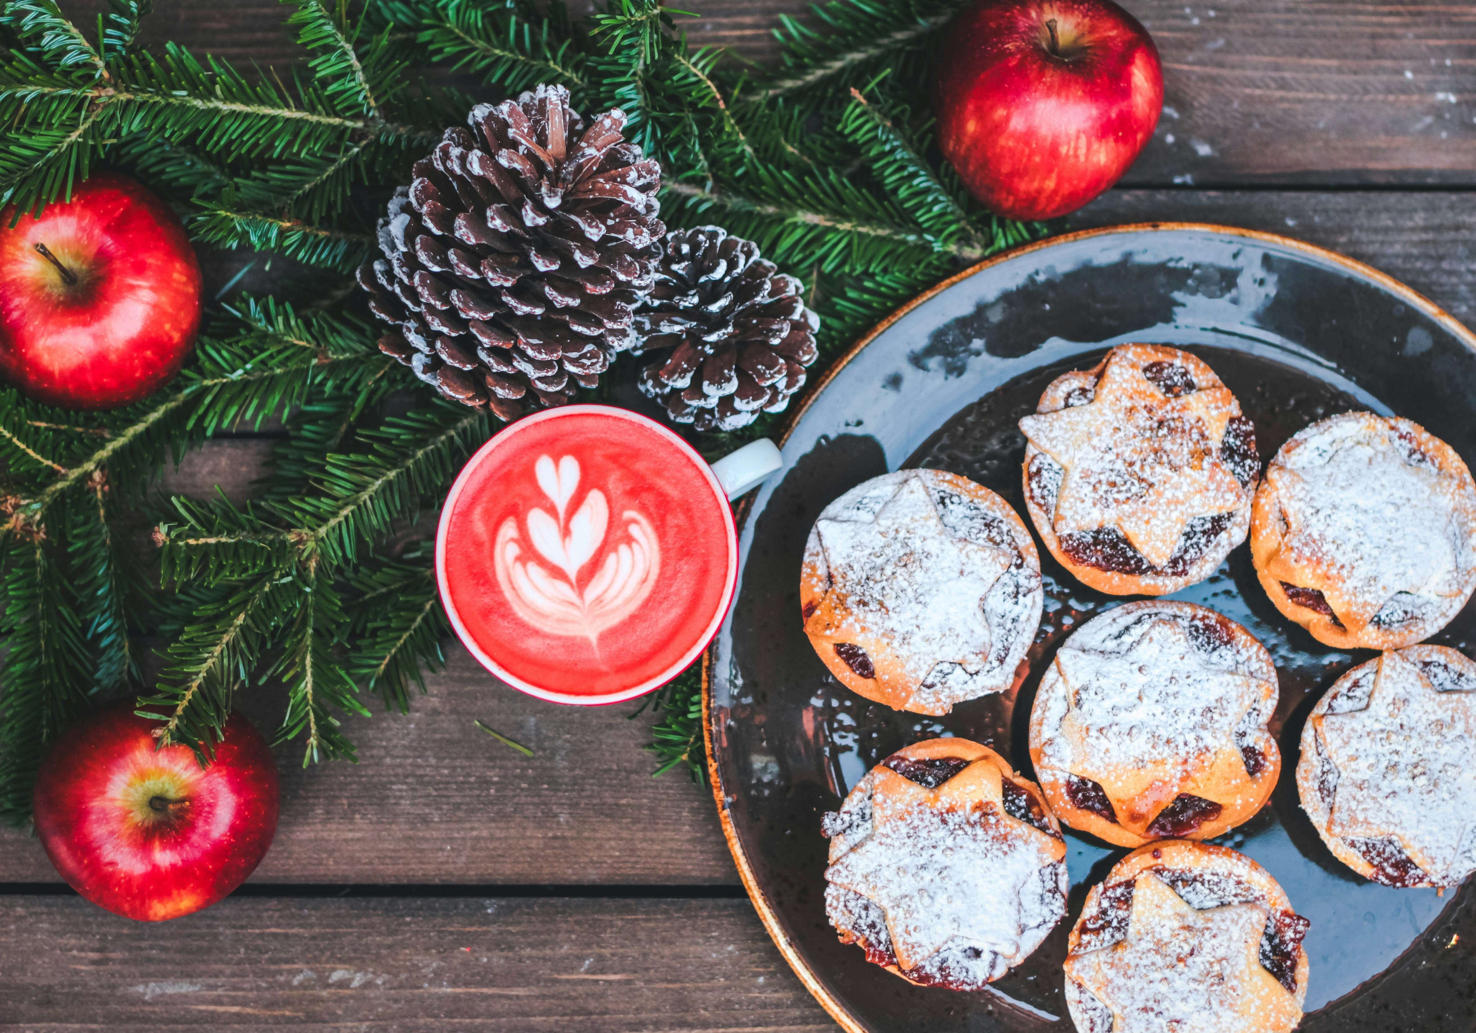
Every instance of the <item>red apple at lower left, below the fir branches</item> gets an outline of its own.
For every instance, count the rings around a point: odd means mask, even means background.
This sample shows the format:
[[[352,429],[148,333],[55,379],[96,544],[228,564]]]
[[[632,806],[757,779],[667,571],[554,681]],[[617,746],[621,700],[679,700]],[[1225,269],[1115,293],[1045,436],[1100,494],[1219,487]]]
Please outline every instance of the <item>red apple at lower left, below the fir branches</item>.
[[[143,922],[208,908],[235,890],[272,846],[276,763],[241,714],[215,760],[155,750],[162,725],[131,701],[72,728],[35,782],[35,831],[62,878],[99,908]]]

